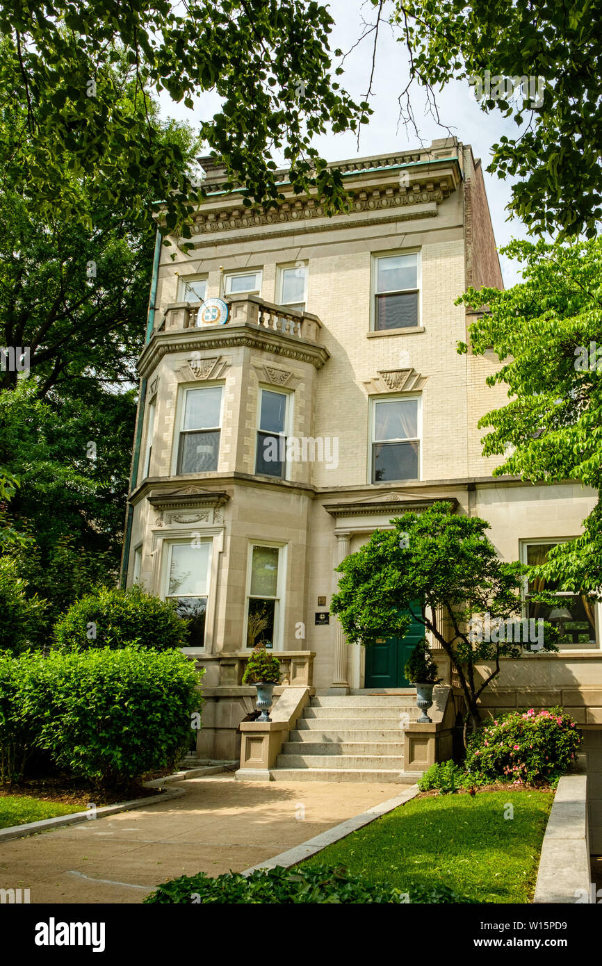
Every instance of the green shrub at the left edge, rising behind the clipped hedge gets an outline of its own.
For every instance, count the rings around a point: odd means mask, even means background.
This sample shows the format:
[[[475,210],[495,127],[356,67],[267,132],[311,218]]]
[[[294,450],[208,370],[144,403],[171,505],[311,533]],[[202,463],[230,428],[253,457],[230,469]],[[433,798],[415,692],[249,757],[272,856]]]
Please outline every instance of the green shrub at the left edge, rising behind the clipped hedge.
[[[43,620],[45,601],[28,593],[16,561],[0,556],[0,651],[20,654],[32,646]]]

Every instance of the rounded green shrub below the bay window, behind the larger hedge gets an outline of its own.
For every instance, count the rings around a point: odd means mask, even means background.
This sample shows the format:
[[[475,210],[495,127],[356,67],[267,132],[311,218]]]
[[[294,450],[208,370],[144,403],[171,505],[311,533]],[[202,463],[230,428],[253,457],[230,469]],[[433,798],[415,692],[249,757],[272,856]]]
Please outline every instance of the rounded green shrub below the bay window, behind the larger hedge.
[[[186,647],[187,621],[171,601],[128,590],[100,587],[75,601],[54,626],[55,645],[64,651],[93,647],[143,647],[162,651]]]

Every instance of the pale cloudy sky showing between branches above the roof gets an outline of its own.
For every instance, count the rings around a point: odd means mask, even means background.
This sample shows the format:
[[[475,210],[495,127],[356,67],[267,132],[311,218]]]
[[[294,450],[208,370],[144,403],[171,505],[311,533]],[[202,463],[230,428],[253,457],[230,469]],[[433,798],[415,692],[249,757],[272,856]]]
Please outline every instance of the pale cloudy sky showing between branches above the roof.
[[[369,0],[331,0],[330,14],[335,21],[330,47],[340,47],[344,52],[358,42],[364,30],[363,22],[374,16],[374,8]],[[371,22],[371,21],[370,21]],[[365,38],[345,59],[345,73],[337,80],[352,98],[363,100],[366,94],[372,64],[373,34]],[[359,147],[357,134],[348,131],[340,134],[325,134],[314,141],[321,155],[329,161],[346,160],[356,156],[389,154],[418,147],[413,129],[399,122],[398,97],[408,81],[407,55],[402,43],[398,43],[387,24],[379,30],[376,70],[372,82],[373,95],[370,103],[374,113],[369,124],[361,126]],[[192,110],[183,104],[176,104],[166,92],[159,101],[164,117],[175,117],[194,124],[199,112],[203,118],[211,117],[218,106],[213,95],[198,99]],[[416,86],[412,95],[416,123],[425,144],[439,137],[447,137],[448,131],[437,124],[425,110],[425,99]],[[493,221],[498,247],[511,238],[527,238],[523,223],[508,219],[505,206],[510,199],[511,181],[500,180],[485,170],[491,159],[491,146],[502,134],[515,136],[518,128],[512,118],[504,119],[498,111],[486,114],[480,109],[473,97],[467,81],[454,81],[437,94],[437,103],[442,123],[451,129],[459,141],[473,146],[473,155],[483,162],[483,174],[487,198]],[[276,157],[276,160],[278,158]],[[500,257],[504,285],[507,288],[520,281],[519,269],[505,256]]]

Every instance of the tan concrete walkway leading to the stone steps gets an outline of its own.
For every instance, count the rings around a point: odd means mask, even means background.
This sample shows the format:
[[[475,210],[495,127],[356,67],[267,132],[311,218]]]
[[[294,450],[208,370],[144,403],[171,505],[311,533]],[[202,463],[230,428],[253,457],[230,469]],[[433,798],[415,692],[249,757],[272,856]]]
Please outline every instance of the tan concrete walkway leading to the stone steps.
[[[179,875],[243,871],[398,795],[409,785],[336,781],[179,782],[171,802],[0,846],[0,888],[32,903],[141,902]]]

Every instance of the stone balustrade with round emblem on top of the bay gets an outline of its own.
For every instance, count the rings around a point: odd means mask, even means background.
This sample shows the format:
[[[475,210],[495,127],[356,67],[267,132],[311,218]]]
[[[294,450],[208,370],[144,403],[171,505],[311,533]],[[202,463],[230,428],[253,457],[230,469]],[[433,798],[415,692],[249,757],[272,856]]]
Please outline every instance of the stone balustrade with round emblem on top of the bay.
[[[283,305],[274,305],[257,296],[231,296],[224,301],[229,307],[226,326],[258,326],[271,332],[290,335],[306,342],[320,342],[322,323],[311,312],[298,312]],[[161,331],[173,329],[222,329],[221,325],[203,325],[197,322],[201,302],[175,302],[167,305]]]

